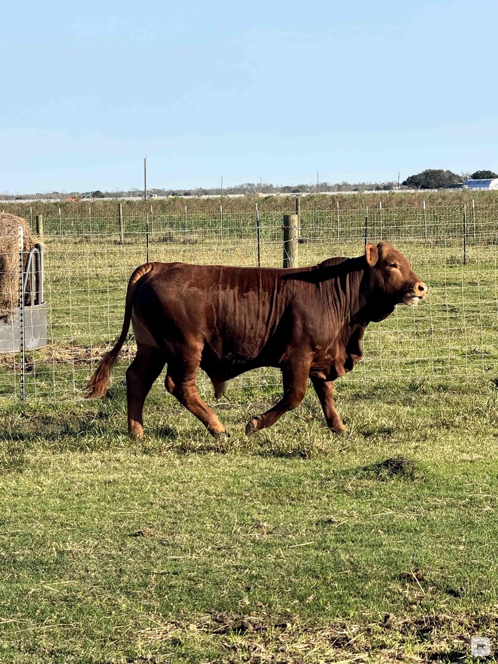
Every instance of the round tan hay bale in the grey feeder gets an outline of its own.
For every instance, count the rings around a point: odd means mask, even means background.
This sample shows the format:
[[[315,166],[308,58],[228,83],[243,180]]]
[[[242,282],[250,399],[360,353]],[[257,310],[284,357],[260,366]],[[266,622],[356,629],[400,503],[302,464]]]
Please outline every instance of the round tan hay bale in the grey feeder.
[[[15,214],[0,212],[0,321],[8,322],[19,307],[19,226],[23,226],[24,267],[35,246],[29,223]]]

